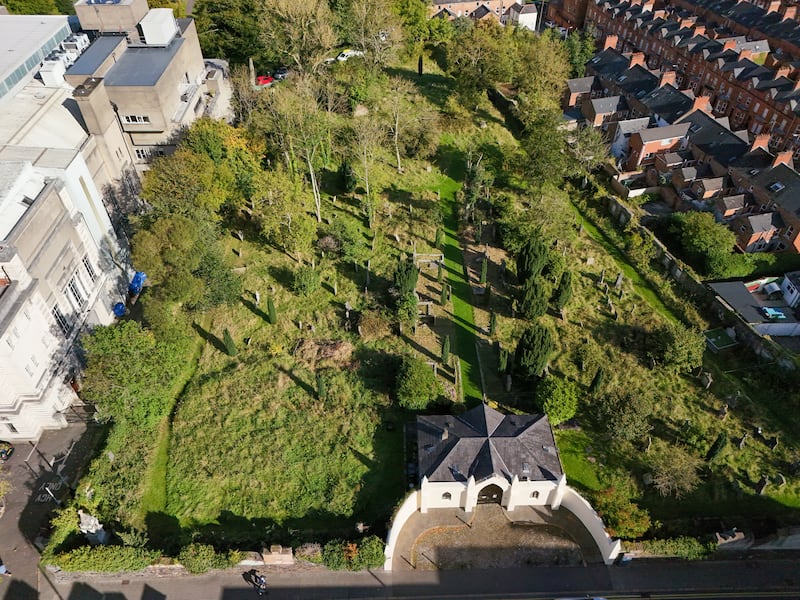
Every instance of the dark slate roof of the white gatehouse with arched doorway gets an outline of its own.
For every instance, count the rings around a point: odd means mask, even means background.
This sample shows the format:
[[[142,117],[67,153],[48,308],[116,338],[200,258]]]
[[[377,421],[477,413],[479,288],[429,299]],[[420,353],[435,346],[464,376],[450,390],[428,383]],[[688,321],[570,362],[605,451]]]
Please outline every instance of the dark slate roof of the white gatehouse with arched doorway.
[[[457,416],[418,416],[416,426],[420,480],[555,481],[564,472],[544,415],[504,415],[481,404]]]

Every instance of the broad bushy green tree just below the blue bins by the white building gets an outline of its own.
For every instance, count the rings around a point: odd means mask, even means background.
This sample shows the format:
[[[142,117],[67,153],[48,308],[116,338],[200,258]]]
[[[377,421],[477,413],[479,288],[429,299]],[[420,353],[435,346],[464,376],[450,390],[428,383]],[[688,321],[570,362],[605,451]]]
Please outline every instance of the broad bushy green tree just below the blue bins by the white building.
[[[86,355],[83,394],[98,415],[152,425],[172,406],[172,385],[186,356],[135,321],[96,327],[81,338]]]

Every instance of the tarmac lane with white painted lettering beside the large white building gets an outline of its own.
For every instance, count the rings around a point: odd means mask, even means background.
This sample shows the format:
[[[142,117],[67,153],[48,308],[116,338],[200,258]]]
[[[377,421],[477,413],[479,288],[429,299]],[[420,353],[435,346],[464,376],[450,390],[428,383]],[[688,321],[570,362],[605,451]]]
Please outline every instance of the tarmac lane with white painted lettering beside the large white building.
[[[84,435],[85,416],[68,416],[65,429],[46,431],[38,444],[18,442],[14,455],[3,464],[13,489],[6,496],[0,518],[0,558],[12,577],[0,578],[2,600],[35,600],[39,597],[37,537],[48,527],[57,501],[70,493],[78,470],[95,436]]]

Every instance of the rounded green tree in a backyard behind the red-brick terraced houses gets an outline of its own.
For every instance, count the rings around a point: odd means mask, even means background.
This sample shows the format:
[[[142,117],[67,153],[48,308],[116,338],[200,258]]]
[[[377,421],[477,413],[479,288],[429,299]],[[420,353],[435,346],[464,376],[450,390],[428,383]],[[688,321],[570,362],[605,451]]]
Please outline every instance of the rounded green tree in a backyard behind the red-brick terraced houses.
[[[672,216],[670,232],[678,237],[687,260],[710,277],[725,277],[736,235],[708,212],[692,211]]]

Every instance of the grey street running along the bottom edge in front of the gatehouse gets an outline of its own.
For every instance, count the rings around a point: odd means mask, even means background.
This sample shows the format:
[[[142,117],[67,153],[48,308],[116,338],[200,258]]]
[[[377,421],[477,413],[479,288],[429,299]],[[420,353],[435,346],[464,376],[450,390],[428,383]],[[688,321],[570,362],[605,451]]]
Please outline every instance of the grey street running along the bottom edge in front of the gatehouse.
[[[246,569],[168,579],[87,579],[41,587],[41,600],[246,600]],[[800,598],[800,561],[680,563],[626,567],[530,567],[491,571],[268,572],[270,600],[580,598],[659,600]],[[44,582],[42,582],[44,584]],[[725,591],[728,590],[728,591]],[[644,594],[644,595],[643,595]]]

